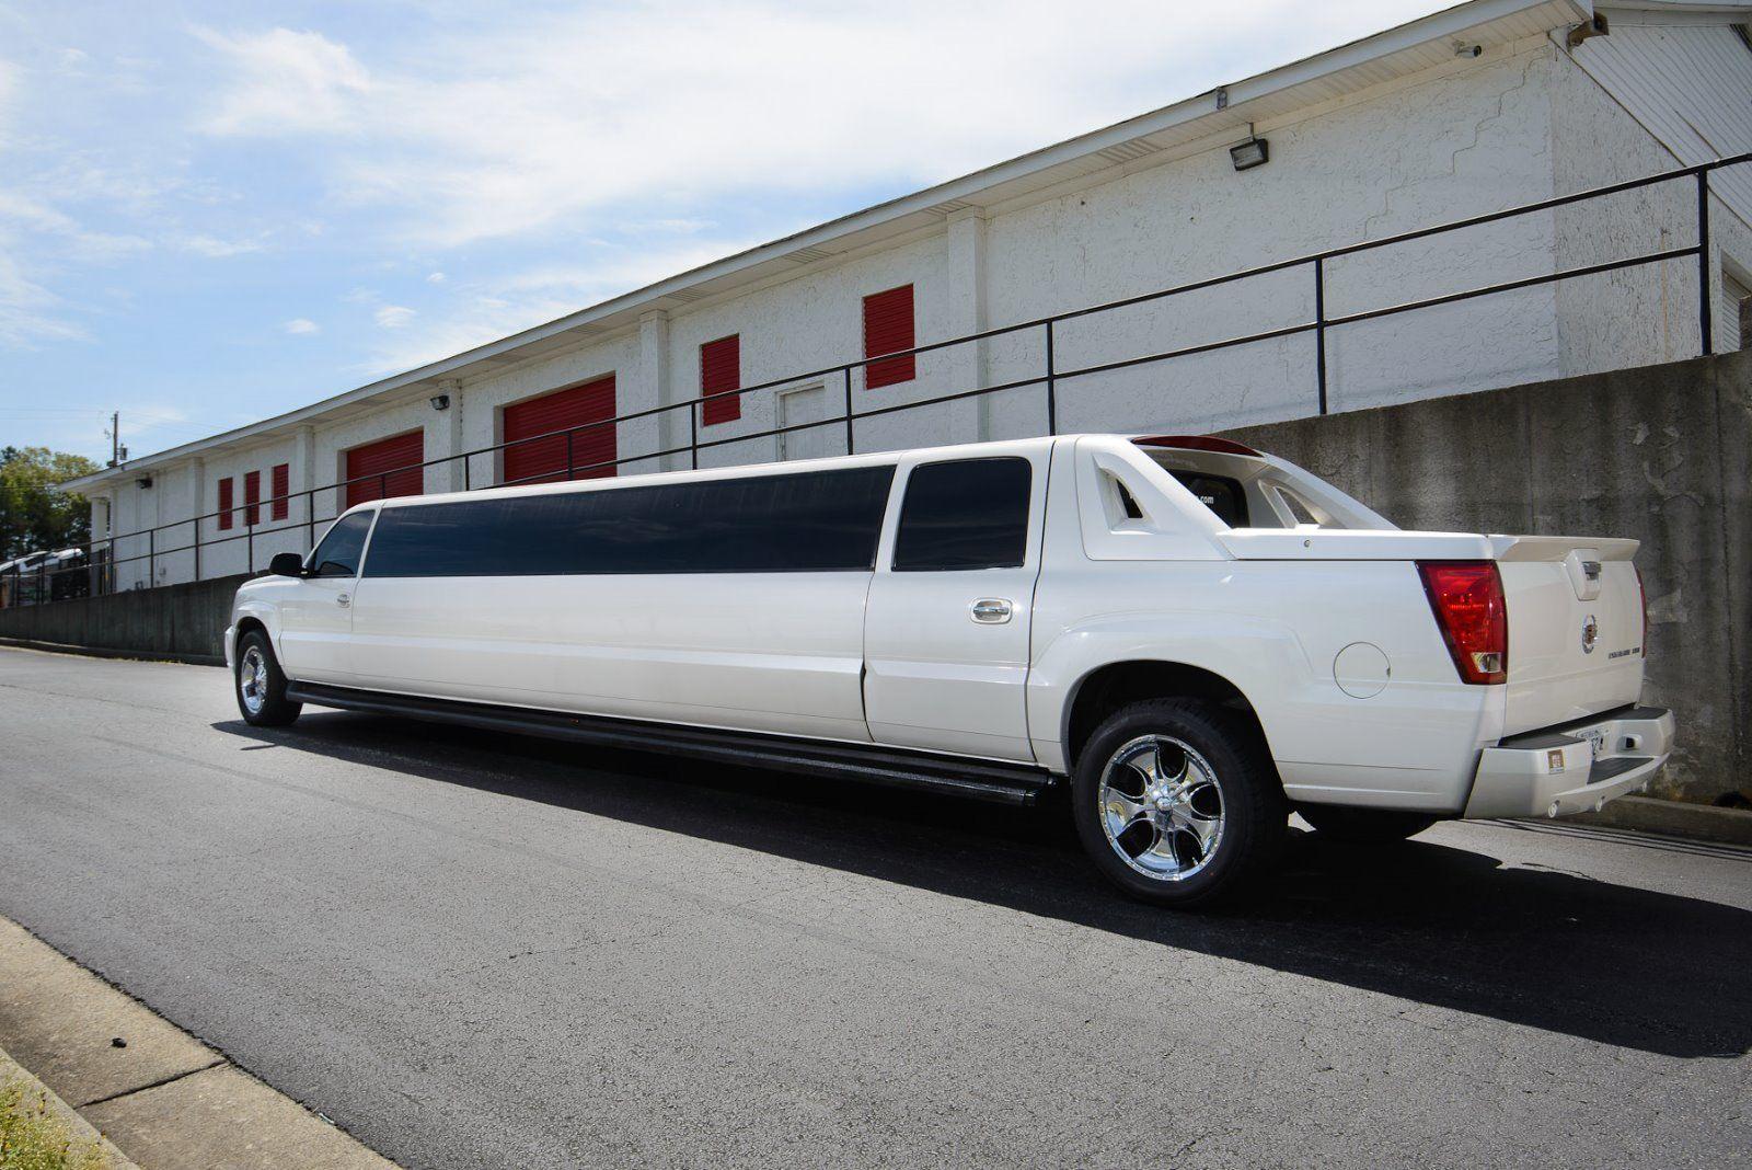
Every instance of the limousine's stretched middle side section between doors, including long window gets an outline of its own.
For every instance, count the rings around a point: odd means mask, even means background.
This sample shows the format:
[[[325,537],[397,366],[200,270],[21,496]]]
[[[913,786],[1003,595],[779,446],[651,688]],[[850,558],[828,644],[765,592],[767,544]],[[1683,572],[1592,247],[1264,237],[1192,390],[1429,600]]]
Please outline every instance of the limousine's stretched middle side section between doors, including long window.
[[[867,741],[864,604],[892,480],[872,461],[384,508],[357,680]]]

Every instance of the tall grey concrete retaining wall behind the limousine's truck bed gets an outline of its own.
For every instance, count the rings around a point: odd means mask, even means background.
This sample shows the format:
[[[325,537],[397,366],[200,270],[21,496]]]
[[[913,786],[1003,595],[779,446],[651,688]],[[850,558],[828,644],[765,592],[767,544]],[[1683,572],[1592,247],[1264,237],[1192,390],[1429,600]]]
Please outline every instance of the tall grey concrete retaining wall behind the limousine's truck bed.
[[[1656,793],[1712,802],[1752,790],[1752,354],[1230,434],[1400,527],[1643,541],[1645,697],[1680,727]]]

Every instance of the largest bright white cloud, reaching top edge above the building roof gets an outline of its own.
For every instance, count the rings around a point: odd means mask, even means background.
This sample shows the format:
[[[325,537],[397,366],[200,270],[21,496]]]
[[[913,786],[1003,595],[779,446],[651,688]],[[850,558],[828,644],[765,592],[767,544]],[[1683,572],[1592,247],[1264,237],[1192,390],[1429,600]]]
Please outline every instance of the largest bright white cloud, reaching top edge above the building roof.
[[[1239,46],[1251,72],[1431,7],[622,2],[370,68],[319,33],[208,32],[233,81],[207,128],[333,138],[336,194],[394,207],[420,243],[687,224],[725,196],[941,180],[1235,81]]]

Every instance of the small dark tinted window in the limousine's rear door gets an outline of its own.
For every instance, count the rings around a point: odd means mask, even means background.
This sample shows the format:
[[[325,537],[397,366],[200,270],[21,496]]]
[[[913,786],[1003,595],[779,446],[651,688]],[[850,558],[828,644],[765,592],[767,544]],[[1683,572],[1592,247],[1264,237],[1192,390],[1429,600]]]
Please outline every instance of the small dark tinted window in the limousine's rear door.
[[[913,468],[894,548],[899,571],[1007,569],[1027,559],[1027,459],[960,459]]]

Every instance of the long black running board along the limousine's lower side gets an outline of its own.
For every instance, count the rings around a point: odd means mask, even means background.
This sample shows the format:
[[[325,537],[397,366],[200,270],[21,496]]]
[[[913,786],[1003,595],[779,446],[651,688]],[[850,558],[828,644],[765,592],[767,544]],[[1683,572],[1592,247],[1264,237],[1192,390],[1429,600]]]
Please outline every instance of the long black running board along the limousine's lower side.
[[[328,687],[322,683],[289,681],[286,685],[286,697],[293,702],[312,702],[322,708],[375,711],[378,715],[398,715],[401,718],[431,720],[436,723],[461,723],[463,727],[568,739],[604,748],[669,751],[717,760],[720,764],[837,776],[841,779],[888,785],[890,788],[922,788],[972,797],[976,800],[997,800],[1000,804],[1034,804],[1041,792],[1058,779],[1044,767],[1025,764],[967,760],[929,751],[908,751],[904,748],[794,739],[790,736],[764,736],[759,732],[641,723],[638,720],[617,720],[596,715],[501,708],[491,702],[420,699],[377,690],[354,690],[350,687]]]

